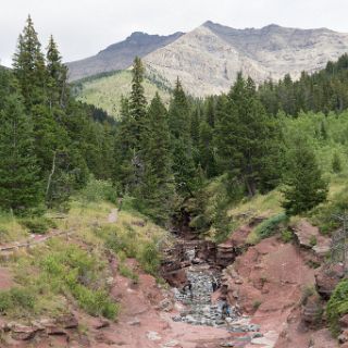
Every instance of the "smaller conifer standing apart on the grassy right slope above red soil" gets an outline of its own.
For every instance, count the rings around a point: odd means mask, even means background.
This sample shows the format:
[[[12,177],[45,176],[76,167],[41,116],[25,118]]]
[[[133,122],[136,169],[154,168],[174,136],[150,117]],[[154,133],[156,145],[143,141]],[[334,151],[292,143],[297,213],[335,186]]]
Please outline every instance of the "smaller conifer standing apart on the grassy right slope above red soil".
[[[296,141],[288,166],[282,204],[288,215],[311,210],[326,199],[327,183],[322,178],[314,152],[304,139]]]

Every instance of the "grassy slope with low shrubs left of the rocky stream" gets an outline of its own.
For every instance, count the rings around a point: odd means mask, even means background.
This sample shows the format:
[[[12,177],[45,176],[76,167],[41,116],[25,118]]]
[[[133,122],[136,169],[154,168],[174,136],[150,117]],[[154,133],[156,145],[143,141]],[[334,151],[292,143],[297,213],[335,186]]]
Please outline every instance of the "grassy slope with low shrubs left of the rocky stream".
[[[54,212],[47,213],[52,216],[57,228],[74,232],[69,239],[55,237],[35,248],[21,249],[10,260],[0,261],[12,270],[15,283],[12,289],[0,291],[2,314],[15,320],[42,315],[54,318],[71,311],[73,306],[90,315],[114,320],[120,306],[109,295],[110,251],[123,254],[124,260],[133,257],[145,271],[157,274],[158,250],[161,245],[171,243],[169,234],[145,216],[127,210],[119,212],[117,221],[110,223],[108,216],[116,209],[110,194],[113,191],[108,183],[90,183],[71,200],[69,213],[60,216],[63,219],[55,220]],[[39,217],[30,224],[34,222],[32,229],[41,232],[46,229],[45,223],[51,221]],[[0,214],[0,226],[7,231],[8,239],[28,236],[24,221],[10,214]],[[138,282],[137,273],[126,262],[121,263],[119,271]]]

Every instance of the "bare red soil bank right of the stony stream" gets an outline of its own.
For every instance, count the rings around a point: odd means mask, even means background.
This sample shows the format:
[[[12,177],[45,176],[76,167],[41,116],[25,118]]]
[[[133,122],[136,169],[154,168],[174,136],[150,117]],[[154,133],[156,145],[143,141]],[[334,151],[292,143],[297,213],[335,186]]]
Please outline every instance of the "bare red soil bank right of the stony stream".
[[[272,338],[257,347],[337,347],[326,330],[310,331],[302,323],[303,289],[313,286],[314,269],[307,264],[307,250],[272,237],[250,247],[226,272],[229,302],[238,303],[251,322]],[[248,345],[247,347],[256,347]]]

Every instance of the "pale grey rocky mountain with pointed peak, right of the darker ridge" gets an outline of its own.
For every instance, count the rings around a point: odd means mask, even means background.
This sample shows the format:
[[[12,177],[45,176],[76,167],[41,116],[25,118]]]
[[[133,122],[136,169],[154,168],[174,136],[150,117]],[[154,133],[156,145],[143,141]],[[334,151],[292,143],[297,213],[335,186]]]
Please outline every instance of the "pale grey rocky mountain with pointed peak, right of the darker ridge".
[[[348,34],[326,28],[298,29],[269,25],[234,29],[206,22],[144,58],[151,72],[172,84],[178,76],[194,96],[228,90],[241,71],[257,83],[285,74],[298,78],[348,51]]]

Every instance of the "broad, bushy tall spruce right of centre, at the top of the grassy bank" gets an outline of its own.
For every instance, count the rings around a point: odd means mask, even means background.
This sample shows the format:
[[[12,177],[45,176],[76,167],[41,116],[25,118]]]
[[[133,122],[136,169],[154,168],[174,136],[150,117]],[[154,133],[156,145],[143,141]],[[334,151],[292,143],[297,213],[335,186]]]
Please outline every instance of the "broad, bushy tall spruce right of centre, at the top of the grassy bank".
[[[270,173],[269,157],[276,151],[276,123],[265,113],[257,98],[251,78],[238,75],[228,95],[228,103],[221,110],[216,125],[217,153],[231,177],[241,181],[249,196],[254,196]],[[276,157],[273,158],[276,160]],[[277,161],[273,163],[277,166]],[[272,174],[279,171],[272,170]],[[276,181],[276,177],[272,179]],[[272,185],[270,185],[272,186]]]

